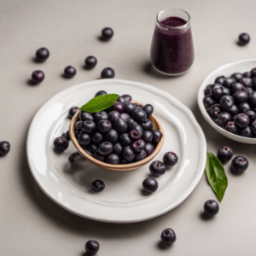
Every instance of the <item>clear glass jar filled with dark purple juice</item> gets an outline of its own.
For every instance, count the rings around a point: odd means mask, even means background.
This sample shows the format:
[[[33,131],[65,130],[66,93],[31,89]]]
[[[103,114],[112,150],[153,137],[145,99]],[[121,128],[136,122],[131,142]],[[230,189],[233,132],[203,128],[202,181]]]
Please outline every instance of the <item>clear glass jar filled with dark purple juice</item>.
[[[150,50],[151,63],[158,72],[180,75],[194,61],[189,14],[181,9],[163,9],[157,15]]]

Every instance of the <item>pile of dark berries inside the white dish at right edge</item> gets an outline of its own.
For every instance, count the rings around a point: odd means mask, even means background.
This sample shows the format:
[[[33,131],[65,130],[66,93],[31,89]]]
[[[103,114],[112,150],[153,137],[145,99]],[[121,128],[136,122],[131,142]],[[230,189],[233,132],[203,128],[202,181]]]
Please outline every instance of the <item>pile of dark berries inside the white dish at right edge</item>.
[[[214,122],[242,137],[256,137],[256,68],[219,76],[205,89],[203,103]]]

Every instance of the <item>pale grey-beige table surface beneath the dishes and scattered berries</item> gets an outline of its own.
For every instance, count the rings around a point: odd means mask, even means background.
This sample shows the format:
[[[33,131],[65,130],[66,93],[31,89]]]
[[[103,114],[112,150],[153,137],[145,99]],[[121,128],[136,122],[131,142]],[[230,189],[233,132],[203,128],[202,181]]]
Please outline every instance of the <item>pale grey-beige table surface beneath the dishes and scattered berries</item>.
[[[192,17],[195,63],[189,73],[169,78],[155,73],[148,62],[154,18],[164,7],[186,9]],[[256,2],[247,1],[0,1],[0,140],[11,151],[0,159],[0,254],[84,255],[84,243],[96,239],[101,255],[255,255],[255,146],[233,142],[213,131],[196,104],[197,90],[215,68],[253,58]],[[111,42],[102,43],[104,26],[114,29]],[[236,45],[240,32],[251,35],[246,47]],[[33,61],[41,46],[50,50],[43,64]],[[96,55],[97,67],[84,70],[84,58]],[[67,65],[77,68],[73,79],[63,79]],[[247,172],[234,176],[225,166],[229,187],[216,218],[201,218],[203,203],[216,199],[205,175],[182,205],[165,215],[137,224],[104,224],[79,218],[58,207],[38,188],[26,161],[26,135],[38,108],[49,97],[74,84],[98,79],[103,67],[113,67],[117,79],[152,84],[188,106],[215,153],[228,144],[250,161]],[[33,70],[46,79],[28,84]],[[202,152],[204,154],[204,152]],[[166,227],[177,241],[159,247]]]

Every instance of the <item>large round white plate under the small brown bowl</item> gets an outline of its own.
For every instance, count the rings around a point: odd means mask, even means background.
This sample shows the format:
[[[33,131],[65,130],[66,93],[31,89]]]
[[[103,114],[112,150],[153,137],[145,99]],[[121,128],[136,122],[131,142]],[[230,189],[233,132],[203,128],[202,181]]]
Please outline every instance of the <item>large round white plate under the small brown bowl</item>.
[[[87,160],[68,163],[75,151],[72,143],[62,153],[53,149],[55,137],[68,130],[67,112],[82,106],[98,90],[119,95],[131,94],[138,102],[154,105],[154,114],[165,131],[165,142],[155,160],[167,151],[179,157],[177,166],[157,178],[159,189],[144,195],[142,183],[148,165],[129,172],[113,172]],[[84,218],[112,223],[131,223],[157,217],[177,207],[195,189],[206,164],[206,139],[193,113],[181,102],[148,84],[105,79],[75,85],[53,96],[38,110],[27,137],[27,159],[32,175],[50,199],[67,211]],[[90,183],[102,179],[106,188],[94,193]]]

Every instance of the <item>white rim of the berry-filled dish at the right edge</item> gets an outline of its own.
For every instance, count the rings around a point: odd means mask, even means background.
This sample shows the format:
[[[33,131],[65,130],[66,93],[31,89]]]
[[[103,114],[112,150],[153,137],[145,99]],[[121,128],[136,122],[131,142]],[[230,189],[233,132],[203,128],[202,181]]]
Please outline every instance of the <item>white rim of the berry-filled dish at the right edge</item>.
[[[214,69],[211,73],[209,73],[207,75],[207,77],[202,81],[200,88],[197,92],[197,105],[201,111],[202,116],[204,117],[204,119],[207,120],[207,123],[209,125],[212,126],[212,128],[215,131],[218,131],[218,133],[220,133],[221,135],[223,135],[224,137],[228,137],[233,141],[236,141],[238,143],[247,143],[247,144],[256,144],[256,138],[253,137],[241,137],[238,136],[236,134],[231,133],[230,131],[226,131],[223,128],[221,128],[220,126],[218,126],[217,124],[214,123],[214,121],[211,119],[211,117],[209,116],[209,114],[207,113],[207,109],[205,108],[203,102],[202,102],[202,96],[204,96],[204,89],[205,89],[205,84],[207,79],[209,79],[213,73],[217,73],[218,71],[221,71],[227,67],[232,67],[232,66],[236,66],[237,64],[241,64],[243,62],[250,62],[250,61],[255,61],[256,59],[245,59],[245,60],[241,60],[241,61],[233,61],[227,64],[224,64],[223,66],[220,66],[216,69]]]

